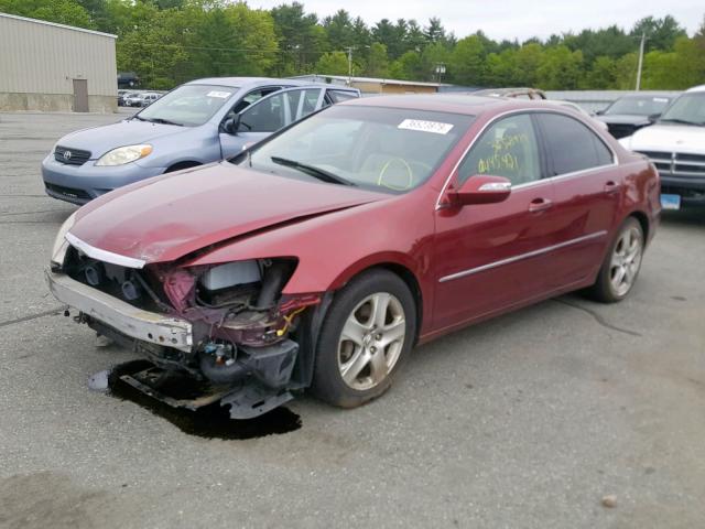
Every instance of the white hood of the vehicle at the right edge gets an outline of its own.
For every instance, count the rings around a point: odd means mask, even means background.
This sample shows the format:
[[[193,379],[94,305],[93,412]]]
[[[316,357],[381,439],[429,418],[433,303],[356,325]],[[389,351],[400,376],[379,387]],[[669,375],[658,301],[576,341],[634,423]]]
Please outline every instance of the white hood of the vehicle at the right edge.
[[[634,151],[692,152],[705,154],[705,127],[653,125],[640,129],[628,139]]]

